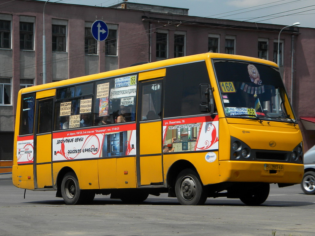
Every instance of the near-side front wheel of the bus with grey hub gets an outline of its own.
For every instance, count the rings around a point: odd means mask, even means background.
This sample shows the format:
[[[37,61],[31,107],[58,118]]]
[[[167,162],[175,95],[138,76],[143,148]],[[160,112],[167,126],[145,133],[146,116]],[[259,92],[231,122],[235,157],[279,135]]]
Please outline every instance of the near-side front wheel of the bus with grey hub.
[[[175,183],[175,194],[181,205],[203,205],[207,199],[201,180],[192,169],[180,171]]]

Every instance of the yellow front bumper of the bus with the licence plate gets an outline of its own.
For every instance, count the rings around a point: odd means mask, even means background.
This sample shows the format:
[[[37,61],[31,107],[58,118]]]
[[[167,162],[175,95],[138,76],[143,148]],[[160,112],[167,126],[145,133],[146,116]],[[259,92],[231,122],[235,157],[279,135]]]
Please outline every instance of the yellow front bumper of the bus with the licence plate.
[[[266,170],[266,165],[274,169]],[[275,166],[278,165],[278,166]],[[270,166],[269,166],[270,167]],[[282,169],[282,170],[279,170]],[[268,161],[219,161],[220,182],[301,183],[303,164]]]

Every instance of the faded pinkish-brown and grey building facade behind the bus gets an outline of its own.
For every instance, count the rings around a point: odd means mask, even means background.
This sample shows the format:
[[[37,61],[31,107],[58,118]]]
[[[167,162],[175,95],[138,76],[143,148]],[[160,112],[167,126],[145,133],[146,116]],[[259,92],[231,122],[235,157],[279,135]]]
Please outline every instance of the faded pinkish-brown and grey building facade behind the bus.
[[[109,8],[36,0],[0,0],[0,160],[12,160],[20,88],[99,73],[131,64],[205,53],[240,54],[277,62],[286,25],[189,16],[186,8],[123,2]],[[91,25],[109,28],[97,42]],[[288,25],[294,22],[288,22]],[[315,144],[315,29],[285,28],[280,70],[304,139]]]

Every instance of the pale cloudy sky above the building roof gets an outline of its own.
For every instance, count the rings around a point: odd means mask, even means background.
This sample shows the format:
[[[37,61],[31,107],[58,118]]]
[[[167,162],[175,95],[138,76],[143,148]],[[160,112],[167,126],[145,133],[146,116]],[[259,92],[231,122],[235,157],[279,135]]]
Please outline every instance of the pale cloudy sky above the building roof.
[[[49,0],[109,7],[123,0]],[[301,27],[315,28],[314,0],[128,0],[168,7],[189,8],[190,16],[239,20],[278,25],[300,22]]]

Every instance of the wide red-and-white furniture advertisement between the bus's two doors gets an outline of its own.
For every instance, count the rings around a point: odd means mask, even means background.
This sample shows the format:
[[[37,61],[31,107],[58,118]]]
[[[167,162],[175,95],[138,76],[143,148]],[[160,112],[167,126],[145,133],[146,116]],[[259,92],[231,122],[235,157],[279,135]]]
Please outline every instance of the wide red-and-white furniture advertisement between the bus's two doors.
[[[135,124],[54,133],[53,153],[53,161],[135,155]]]

